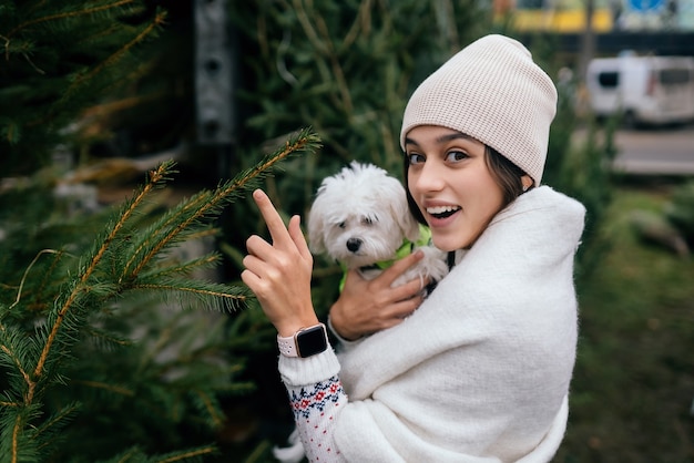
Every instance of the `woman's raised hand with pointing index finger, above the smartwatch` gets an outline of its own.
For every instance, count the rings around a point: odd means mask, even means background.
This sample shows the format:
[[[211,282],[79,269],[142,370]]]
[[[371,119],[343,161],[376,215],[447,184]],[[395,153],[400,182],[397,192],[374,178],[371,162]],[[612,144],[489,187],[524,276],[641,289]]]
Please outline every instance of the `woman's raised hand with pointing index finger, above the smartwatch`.
[[[318,323],[310,299],[313,256],[298,216],[292,217],[285,227],[263,191],[253,192],[253,199],[265,219],[272,244],[257,235],[248,238],[248,255],[243,260],[246,269],[241,278],[258,298],[279,336],[293,336],[300,328]]]

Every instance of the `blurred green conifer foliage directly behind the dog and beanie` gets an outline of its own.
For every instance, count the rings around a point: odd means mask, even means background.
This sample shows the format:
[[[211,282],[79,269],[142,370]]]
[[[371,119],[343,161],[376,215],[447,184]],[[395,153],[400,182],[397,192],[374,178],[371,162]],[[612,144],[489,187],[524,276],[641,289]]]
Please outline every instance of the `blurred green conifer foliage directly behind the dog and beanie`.
[[[357,158],[391,172],[409,93],[490,25],[476,0],[233,2],[231,18],[254,51],[241,63],[244,133],[269,140],[302,121],[330,168]]]

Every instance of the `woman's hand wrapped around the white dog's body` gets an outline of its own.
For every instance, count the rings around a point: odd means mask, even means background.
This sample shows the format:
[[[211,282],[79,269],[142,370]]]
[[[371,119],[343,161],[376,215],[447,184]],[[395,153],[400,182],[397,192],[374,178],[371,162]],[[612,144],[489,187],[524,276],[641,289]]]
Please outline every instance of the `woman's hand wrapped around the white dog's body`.
[[[356,340],[394,327],[411,315],[421,303],[421,290],[429,281],[422,286],[417,278],[396,288],[390,285],[422,257],[421,251],[404,257],[372,280],[350,270],[343,292],[330,308],[333,329],[344,339]]]

